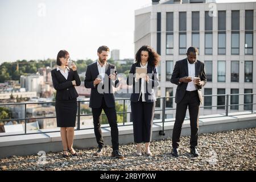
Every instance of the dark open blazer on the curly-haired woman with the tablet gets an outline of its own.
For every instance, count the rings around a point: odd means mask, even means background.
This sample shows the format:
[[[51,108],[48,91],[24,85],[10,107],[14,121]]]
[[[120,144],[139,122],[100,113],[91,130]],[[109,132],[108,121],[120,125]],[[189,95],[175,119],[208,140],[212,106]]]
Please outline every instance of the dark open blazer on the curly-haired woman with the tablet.
[[[127,85],[133,85],[133,93],[131,93],[131,102],[138,102],[139,100],[139,93],[141,93],[141,79],[139,78],[138,82],[135,82],[135,73],[136,73],[136,67],[141,67],[140,63],[134,63],[131,65],[131,69],[129,72],[129,76],[127,77]],[[146,102],[155,102],[155,91],[154,88],[159,86],[159,78],[158,78],[158,70],[155,66],[151,66],[150,64],[147,64],[147,75],[149,77],[149,82],[144,82],[144,89],[146,89],[145,92],[145,100]],[[135,92],[135,87],[139,88],[139,92]],[[136,90],[138,91],[138,90]]]

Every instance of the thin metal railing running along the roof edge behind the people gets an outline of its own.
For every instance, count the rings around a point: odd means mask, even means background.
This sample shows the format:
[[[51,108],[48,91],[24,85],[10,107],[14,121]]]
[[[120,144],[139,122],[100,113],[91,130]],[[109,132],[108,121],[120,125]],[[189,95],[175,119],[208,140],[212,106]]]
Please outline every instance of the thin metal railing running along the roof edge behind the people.
[[[220,115],[220,116],[216,116],[216,117],[204,117],[204,118],[217,118],[217,117],[223,117],[223,116],[228,116],[229,115],[229,107],[230,106],[240,106],[240,105],[250,105],[251,106],[251,113],[256,113],[253,111],[253,105],[255,105],[256,103],[253,103],[253,96],[256,93],[243,93],[243,94],[213,94],[213,95],[204,95],[203,97],[225,97],[225,105],[210,105],[210,106],[200,106],[200,108],[207,108],[207,107],[225,107],[225,115]],[[247,103],[247,104],[229,104],[229,97],[230,96],[246,96],[246,95],[251,95],[251,103]],[[174,102],[174,96],[171,97],[158,97],[156,98],[157,100],[161,100],[162,99],[162,108],[160,107],[160,109],[155,109],[155,111],[162,111],[162,121],[159,122],[154,122],[154,123],[163,123],[162,125],[162,130],[159,131],[159,135],[165,135],[164,134],[164,123],[168,122],[166,121],[166,111],[167,110],[176,110],[176,108],[168,108],[166,107],[166,102],[167,102],[167,98],[170,98],[171,100],[171,104],[173,104]],[[117,112],[117,114],[123,114],[123,122],[122,125],[118,125],[118,126],[131,126],[133,124],[125,124],[125,115],[126,114],[130,114],[131,111],[125,111],[125,101],[126,100],[130,100],[130,98],[120,98],[120,99],[115,99],[115,101],[123,101],[123,111],[121,112]],[[84,116],[92,116],[92,114],[81,114],[81,103],[82,102],[89,102],[89,101],[77,101],[77,127],[75,130],[88,130],[88,129],[93,129],[93,127],[90,128],[85,128],[85,129],[81,129],[80,128],[80,119],[81,117]],[[0,123],[1,122],[6,122],[6,121],[25,121],[24,122],[24,133],[22,134],[6,134],[6,135],[0,135],[0,137],[8,137],[8,136],[16,136],[16,135],[28,135],[28,134],[44,134],[44,133],[55,133],[55,132],[59,132],[59,130],[56,131],[39,131],[40,132],[35,132],[35,133],[27,133],[27,123],[30,119],[47,119],[47,118],[56,118],[56,116],[53,117],[32,117],[29,118],[27,117],[27,105],[34,105],[34,104],[55,104],[55,102],[24,102],[24,103],[8,103],[8,104],[0,104],[1,106],[10,106],[10,105],[24,105],[24,118],[15,118],[15,119],[0,119]],[[104,115],[105,113],[102,113],[102,115]],[[239,114],[242,115],[242,114]],[[234,115],[233,115],[234,116]],[[108,126],[105,126],[108,127]],[[102,127],[104,128],[104,127]]]

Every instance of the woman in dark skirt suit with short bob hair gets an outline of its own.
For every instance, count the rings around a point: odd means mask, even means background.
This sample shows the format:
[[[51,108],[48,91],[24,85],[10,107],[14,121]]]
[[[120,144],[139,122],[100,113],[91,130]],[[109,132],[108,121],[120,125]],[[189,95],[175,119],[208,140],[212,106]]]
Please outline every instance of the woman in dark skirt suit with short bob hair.
[[[79,96],[75,86],[81,84],[76,65],[68,65],[69,53],[65,50],[57,54],[57,68],[51,71],[52,84],[56,92],[56,118],[57,127],[60,127],[60,135],[63,144],[63,157],[67,157],[68,151],[72,156],[77,156],[73,149],[74,127],[76,123],[77,100]]]

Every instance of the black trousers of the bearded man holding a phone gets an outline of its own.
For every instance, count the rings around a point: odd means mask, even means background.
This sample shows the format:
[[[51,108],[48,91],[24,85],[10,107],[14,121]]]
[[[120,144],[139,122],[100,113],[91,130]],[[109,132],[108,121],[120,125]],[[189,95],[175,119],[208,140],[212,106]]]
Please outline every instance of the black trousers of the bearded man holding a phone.
[[[118,150],[119,143],[118,143],[117,112],[115,110],[115,107],[106,106],[104,98],[102,98],[102,104],[100,108],[92,108],[94,134],[96,136],[98,147],[102,148],[104,146],[104,140],[102,138],[101,122],[100,122],[100,115],[101,115],[102,109],[104,110],[106,117],[108,118],[108,122],[111,128],[112,148],[113,150]]]

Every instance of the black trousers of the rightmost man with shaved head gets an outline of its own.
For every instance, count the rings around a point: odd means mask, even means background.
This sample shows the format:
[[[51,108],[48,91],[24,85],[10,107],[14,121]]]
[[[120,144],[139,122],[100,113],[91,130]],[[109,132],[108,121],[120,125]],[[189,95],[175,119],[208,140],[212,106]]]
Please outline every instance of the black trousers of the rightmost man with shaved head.
[[[172,147],[179,147],[181,127],[183,125],[187,107],[189,111],[191,127],[190,148],[195,148],[197,146],[199,130],[199,106],[200,100],[197,90],[192,92],[186,91],[183,100],[179,104],[177,104],[176,107],[176,117],[174,123],[174,130],[172,133]]]

